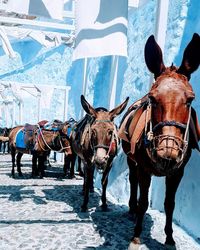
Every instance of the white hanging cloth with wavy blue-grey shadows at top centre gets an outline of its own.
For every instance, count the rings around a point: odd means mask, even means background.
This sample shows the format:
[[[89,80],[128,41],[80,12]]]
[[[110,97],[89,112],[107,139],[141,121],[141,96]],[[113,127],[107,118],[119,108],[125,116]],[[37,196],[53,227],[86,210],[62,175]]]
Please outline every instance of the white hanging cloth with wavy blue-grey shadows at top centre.
[[[73,60],[127,56],[128,0],[76,0]]]

